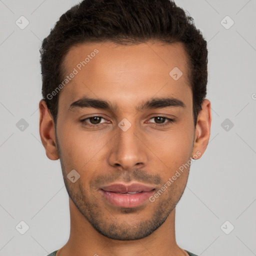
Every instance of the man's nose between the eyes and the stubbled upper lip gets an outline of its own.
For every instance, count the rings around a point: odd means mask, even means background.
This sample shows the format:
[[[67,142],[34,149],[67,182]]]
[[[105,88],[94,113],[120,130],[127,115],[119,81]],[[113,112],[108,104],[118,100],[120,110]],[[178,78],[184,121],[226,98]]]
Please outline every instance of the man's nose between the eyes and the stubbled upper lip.
[[[135,167],[143,167],[146,164],[146,147],[143,144],[143,136],[131,125],[126,131],[116,127],[116,135],[113,137],[108,157],[111,166],[121,166],[125,170]]]

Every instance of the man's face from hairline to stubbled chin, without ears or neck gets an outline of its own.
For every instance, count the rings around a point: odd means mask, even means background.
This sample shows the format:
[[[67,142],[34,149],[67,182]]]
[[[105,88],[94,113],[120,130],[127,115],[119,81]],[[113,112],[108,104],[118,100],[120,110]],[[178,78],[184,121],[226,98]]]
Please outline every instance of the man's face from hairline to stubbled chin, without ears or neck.
[[[69,197],[104,236],[157,229],[202,154],[186,62],[181,43],[84,43],[65,56],[65,74],[75,74],[58,95],[57,154]]]

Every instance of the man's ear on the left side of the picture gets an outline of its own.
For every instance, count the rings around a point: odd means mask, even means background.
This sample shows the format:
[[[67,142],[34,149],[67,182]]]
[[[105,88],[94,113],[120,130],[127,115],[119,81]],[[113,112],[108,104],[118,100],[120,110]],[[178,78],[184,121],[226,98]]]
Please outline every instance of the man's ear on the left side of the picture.
[[[45,101],[42,99],[39,101],[39,112],[39,133],[45,153],[50,160],[57,160],[59,157],[56,146],[54,121]]]

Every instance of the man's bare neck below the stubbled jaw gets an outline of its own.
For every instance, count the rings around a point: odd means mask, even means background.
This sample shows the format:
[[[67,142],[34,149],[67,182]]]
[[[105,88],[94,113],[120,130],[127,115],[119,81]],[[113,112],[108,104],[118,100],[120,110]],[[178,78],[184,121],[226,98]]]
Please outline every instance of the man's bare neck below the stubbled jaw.
[[[175,240],[175,208],[150,235],[137,240],[114,240],[98,233],[69,198],[70,235],[56,256],[184,256]]]

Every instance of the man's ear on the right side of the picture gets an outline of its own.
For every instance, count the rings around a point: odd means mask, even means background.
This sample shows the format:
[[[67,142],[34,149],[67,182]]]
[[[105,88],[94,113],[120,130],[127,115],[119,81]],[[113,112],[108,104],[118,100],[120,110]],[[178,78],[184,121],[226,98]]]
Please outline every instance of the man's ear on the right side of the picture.
[[[201,104],[201,110],[198,113],[195,131],[194,131],[194,145],[192,153],[199,159],[204,153],[209,137],[210,137],[210,124],[211,124],[211,109],[210,101],[204,99]]]

